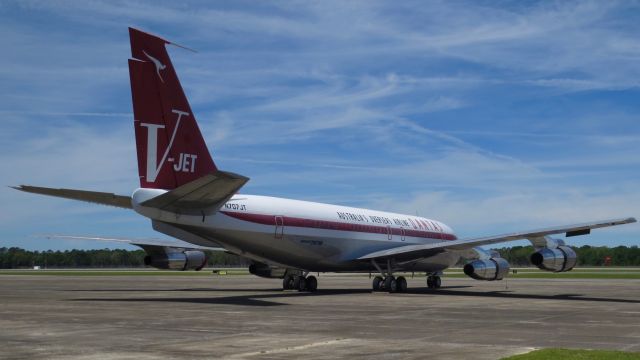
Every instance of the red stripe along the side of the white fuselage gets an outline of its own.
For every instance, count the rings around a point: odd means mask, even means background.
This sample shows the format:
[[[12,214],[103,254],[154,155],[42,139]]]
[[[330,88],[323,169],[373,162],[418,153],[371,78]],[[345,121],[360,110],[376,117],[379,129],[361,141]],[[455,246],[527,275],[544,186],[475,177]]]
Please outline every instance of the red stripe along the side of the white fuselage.
[[[220,211],[221,213],[244,221],[249,221],[256,224],[263,225],[276,225],[275,215],[263,215],[263,214],[249,214],[239,213],[231,211]],[[304,219],[291,216],[281,216],[284,226],[312,228],[312,229],[325,229],[325,230],[340,230],[340,231],[352,231],[361,233],[372,234],[391,234],[396,236],[411,236],[428,239],[441,239],[441,240],[457,240],[457,237],[453,234],[438,233],[432,231],[422,231],[414,229],[398,229],[393,227],[364,225],[364,224],[351,224],[338,221],[316,220],[316,219]],[[404,232],[404,234],[403,234]]]

